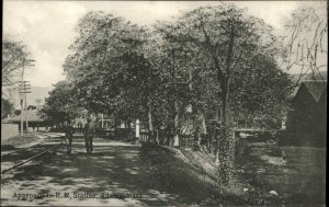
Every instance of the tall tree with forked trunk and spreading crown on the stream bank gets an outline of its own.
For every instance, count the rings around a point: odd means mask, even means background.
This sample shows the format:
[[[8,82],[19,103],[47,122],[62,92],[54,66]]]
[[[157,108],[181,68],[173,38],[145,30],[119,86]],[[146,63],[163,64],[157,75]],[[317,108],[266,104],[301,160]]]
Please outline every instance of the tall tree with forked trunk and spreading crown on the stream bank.
[[[232,78],[252,56],[275,56],[276,39],[272,28],[263,21],[247,16],[243,10],[225,3],[186,12],[175,25],[177,32],[168,34],[169,38],[195,47],[203,56],[202,62],[208,62],[204,68],[211,71],[206,73],[216,77],[215,90],[220,106],[217,117],[222,126],[222,133],[217,136],[217,152],[222,179],[227,183],[232,162],[229,157],[234,148],[228,116]]]

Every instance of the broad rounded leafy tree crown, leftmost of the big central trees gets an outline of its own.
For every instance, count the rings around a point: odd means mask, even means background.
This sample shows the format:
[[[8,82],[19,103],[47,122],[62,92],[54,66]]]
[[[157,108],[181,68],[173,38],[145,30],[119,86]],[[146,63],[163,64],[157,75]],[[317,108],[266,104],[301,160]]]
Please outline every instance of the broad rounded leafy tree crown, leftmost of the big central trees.
[[[91,112],[115,114],[121,119],[138,115],[143,97],[137,77],[147,64],[141,45],[145,30],[103,12],[86,14],[77,26],[64,69],[79,104]]]

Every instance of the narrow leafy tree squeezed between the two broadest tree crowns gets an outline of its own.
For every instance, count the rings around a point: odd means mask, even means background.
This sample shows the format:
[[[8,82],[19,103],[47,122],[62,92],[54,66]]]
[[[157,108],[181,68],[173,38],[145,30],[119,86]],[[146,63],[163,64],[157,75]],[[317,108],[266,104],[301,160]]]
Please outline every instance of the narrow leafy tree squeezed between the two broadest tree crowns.
[[[156,105],[156,118],[158,123],[166,123],[172,129],[173,139],[170,145],[179,146],[179,115],[182,112],[182,104],[185,97],[185,88],[182,83],[182,69],[180,56],[183,47],[173,43],[168,38],[168,34],[174,33],[171,25],[159,24],[152,31],[148,49],[145,51],[154,73],[158,74],[159,80],[151,81],[154,83],[154,94],[151,102]],[[162,120],[160,120],[160,118]]]

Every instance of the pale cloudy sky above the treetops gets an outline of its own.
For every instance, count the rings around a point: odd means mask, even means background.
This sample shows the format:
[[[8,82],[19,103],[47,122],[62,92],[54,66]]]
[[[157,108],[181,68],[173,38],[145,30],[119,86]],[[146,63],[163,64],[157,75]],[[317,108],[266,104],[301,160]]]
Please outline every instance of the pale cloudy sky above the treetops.
[[[3,34],[23,42],[35,59],[26,70],[32,85],[52,87],[65,79],[63,62],[73,42],[78,20],[89,11],[105,11],[133,23],[151,25],[170,20],[200,5],[215,1],[3,1]],[[316,7],[326,12],[325,1],[239,1],[249,14],[261,18],[277,32],[298,7]]]

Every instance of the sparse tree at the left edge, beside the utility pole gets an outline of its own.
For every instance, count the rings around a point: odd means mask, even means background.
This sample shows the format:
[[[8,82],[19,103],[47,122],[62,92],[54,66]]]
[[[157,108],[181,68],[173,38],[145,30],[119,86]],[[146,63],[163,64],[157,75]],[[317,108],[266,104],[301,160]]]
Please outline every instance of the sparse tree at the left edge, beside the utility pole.
[[[8,36],[2,39],[2,90],[12,92],[24,73],[24,67],[31,66],[26,61],[30,53],[23,43],[12,41]],[[2,91],[3,92],[3,91]]]

